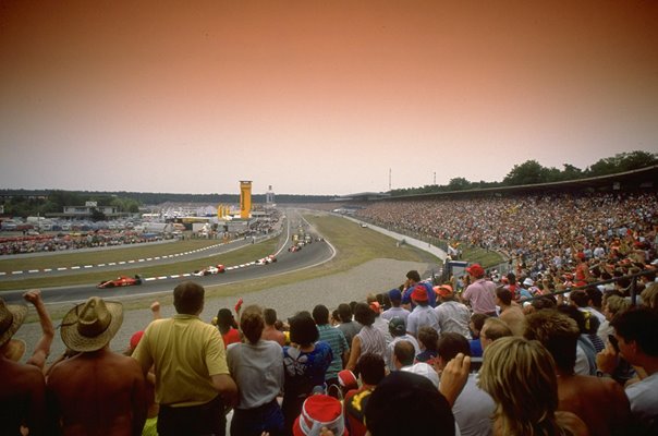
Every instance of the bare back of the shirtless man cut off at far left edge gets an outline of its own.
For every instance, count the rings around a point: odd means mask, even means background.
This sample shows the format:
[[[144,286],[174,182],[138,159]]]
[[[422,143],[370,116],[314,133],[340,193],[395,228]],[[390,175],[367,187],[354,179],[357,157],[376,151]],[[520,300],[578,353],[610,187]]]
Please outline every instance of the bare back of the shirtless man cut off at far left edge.
[[[0,434],[46,434],[46,382],[41,371],[0,356]]]

